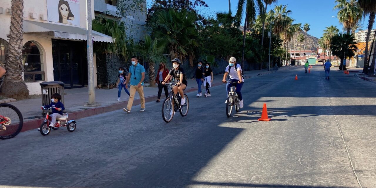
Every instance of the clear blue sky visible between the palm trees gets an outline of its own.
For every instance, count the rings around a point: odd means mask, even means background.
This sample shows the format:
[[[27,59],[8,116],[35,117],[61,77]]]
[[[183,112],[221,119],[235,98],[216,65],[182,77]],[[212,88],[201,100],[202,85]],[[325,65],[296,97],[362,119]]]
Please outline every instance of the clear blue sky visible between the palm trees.
[[[148,6],[152,0],[147,0]],[[214,14],[215,12],[228,11],[229,3],[228,0],[205,0],[209,7],[198,8],[201,14],[208,15]],[[238,0],[231,0],[231,10],[233,13],[237,11]],[[334,10],[335,6],[334,0],[278,0],[276,5],[288,5],[288,9],[292,11],[290,17],[294,18],[294,23],[305,23],[311,24],[311,30],[308,34],[313,35],[317,38],[322,36],[323,30],[327,26],[337,26],[338,29],[342,30],[342,24],[338,22],[337,18],[332,16],[337,16],[337,10]],[[274,9],[274,5],[268,6],[268,10]],[[363,29],[367,29],[368,17],[362,20]]]

